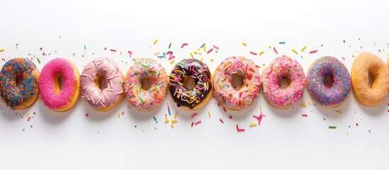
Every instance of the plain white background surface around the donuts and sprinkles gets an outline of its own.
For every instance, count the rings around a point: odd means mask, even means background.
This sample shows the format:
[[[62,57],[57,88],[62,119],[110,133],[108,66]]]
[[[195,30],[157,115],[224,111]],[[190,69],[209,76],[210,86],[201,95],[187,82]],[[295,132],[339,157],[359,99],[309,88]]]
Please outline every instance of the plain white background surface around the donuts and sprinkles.
[[[207,49],[220,47],[217,54],[213,50],[196,55],[211,70],[233,55],[262,67],[278,56],[272,49],[276,47],[278,54],[298,60],[305,72],[324,55],[342,60],[350,71],[353,55],[362,51],[386,62],[388,5],[388,1],[1,1],[0,48],[6,51],[0,57],[33,58],[40,70],[53,58],[65,57],[81,72],[87,62],[107,56],[124,74],[132,59],[150,57],[170,72],[174,64],[154,52],[167,52],[171,42],[176,60],[182,60],[205,42]],[[280,41],[286,44],[279,45]],[[184,42],[188,46],[181,49]],[[304,45],[307,49],[300,52]],[[249,54],[261,50],[264,55]],[[298,103],[281,111],[261,93],[253,106],[227,113],[215,99],[199,111],[184,111],[170,96],[150,113],[136,111],[126,101],[105,113],[94,111],[84,98],[66,113],[52,112],[40,100],[23,111],[11,111],[1,101],[0,169],[389,168],[388,98],[368,108],[351,92],[342,106],[329,109],[313,106],[305,91],[304,101],[312,106]],[[174,129],[164,123],[166,103],[171,113],[179,111]],[[336,113],[340,109],[342,114]],[[26,116],[33,112],[36,115],[28,121]],[[266,115],[261,125],[249,128],[256,123],[252,115],[261,112]],[[192,113],[198,116],[191,119]],[[197,120],[202,123],[191,128]],[[235,125],[246,131],[237,132]]]

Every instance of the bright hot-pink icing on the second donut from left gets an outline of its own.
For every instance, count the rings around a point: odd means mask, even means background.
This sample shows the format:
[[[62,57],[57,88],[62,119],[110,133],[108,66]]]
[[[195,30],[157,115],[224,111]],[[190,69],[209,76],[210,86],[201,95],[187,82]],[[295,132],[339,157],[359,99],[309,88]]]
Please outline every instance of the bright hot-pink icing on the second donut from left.
[[[54,77],[60,73],[64,79],[64,86],[60,94],[55,94]],[[43,103],[50,109],[60,109],[70,104],[74,94],[74,84],[77,83],[74,68],[68,60],[56,58],[47,62],[40,72],[39,91]]]

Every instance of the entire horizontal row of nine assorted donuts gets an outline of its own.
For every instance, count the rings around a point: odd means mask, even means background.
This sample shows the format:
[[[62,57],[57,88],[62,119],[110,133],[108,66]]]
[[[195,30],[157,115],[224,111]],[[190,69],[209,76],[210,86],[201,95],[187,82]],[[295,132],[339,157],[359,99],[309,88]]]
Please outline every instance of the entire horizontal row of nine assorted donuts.
[[[40,94],[45,106],[58,112],[73,108],[79,96],[98,111],[110,110],[126,96],[138,110],[152,111],[162,103],[169,88],[177,106],[187,110],[201,108],[214,95],[225,108],[240,111],[256,101],[262,87],[266,100],[280,109],[298,103],[305,87],[320,106],[335,108],[342,105],[352,88],[363,106],[378,106],[388,94],[388,68],[389,59],[386,66],[376,55],[362,52],[354,60],[351,77],[342,62],[325,56],[310,65],[305,78],[301,65],[285,55],[277,57],[262,73],[252,60],[228,57],[213,74],[205,63],[186,59],[176,63],[168,76],[154,60],[137,59],[123,77],[118,64],[108,57],[89,62],[81,74],[71,61],[63,58],[47,62],[41,72],[30,60],[15,58],[1,69],[0,96],[7,106],[23,109],[33,106]],[[241,77],[242,86],[234,88],[232,77]],[[187,88],[185,85],[192,78],[195,85]],[[326,83],[328,78],[331,80]],[[102,79],[106,82],[104,87],[100,87]],[[288,80],[286,88],[281,87],[281,79]],[[142,86],[144,81],[150,85]]]

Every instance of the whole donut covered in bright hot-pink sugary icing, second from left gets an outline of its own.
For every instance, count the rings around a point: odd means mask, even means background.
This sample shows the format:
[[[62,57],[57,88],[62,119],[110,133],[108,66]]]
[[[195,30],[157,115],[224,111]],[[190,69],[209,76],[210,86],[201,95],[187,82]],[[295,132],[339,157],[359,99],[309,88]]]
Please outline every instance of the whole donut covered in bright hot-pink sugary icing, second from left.
[[[39,78],[40,98],[45,106],[57,112],[72,109],[79,100],[79,79],[79,71],[70,60],[56,58],[47,62]]]

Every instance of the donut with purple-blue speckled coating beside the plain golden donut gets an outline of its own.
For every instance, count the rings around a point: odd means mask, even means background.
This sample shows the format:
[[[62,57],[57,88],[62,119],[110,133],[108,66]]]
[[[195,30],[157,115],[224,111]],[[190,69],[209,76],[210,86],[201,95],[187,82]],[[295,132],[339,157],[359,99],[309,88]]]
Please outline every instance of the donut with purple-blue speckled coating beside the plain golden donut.
[[[326,77],[332,79],[332,84],[326,86]],[[310,64],[307,83],[313,100],[326,108],[342,105],[351,91],[349,71],[337,58],[330,56],[320,57]]]

